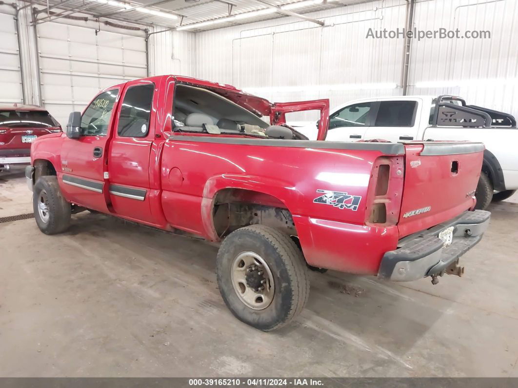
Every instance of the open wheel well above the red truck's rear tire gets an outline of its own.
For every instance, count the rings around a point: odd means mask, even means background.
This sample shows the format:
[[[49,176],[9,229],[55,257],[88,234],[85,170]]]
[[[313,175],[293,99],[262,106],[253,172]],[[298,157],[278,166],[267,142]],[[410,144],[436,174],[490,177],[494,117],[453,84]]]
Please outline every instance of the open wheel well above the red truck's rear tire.
[[[291,212],[269,194],[243,189],[223,189],[214,198],[214,229],[220,238],[248,225],[266,225],[297,236]]]

